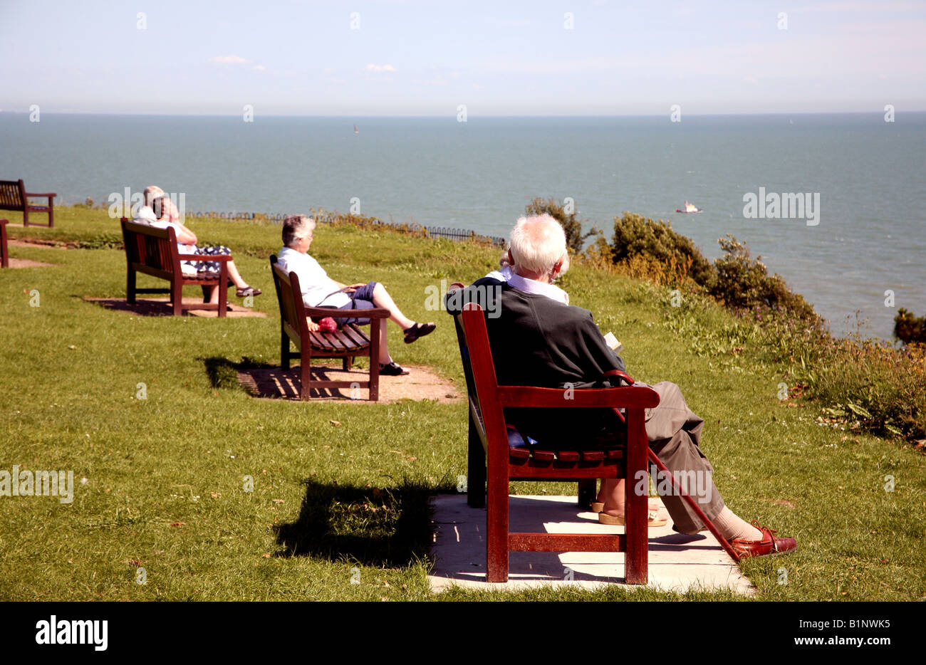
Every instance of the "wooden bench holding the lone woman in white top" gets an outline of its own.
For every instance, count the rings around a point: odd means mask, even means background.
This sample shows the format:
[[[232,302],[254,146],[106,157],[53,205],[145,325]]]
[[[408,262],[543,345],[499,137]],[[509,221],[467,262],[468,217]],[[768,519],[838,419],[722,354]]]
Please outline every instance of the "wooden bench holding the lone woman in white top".
[[[299,396],[308,401],[312,388],[367,388],[369,401],[380,398],[380,331],[389,318],[385,307],[351,310],[346,313],[332,307],[306,307],[302,300],[302,288],[299,276],[295,272],[287,273],[277,263],[276,255],[270,257],[270,271],[273,273],[273,285],[277,289],[277,302],[280,304],[280,364],[283,370],[289,370],[290,360],[299,358],[300,386]],[[347,323],[333,333],[321,331],[309,332],[308,318],[322,319],[332,316],[356,316],[370,320],[369,337],[353,323]],[[290,351],[292,342],[296,351]],[[328,381],[312,380],[312,358],[343,358],[344,371],[350,370],[354,358],[369,357],[368,381]],[[351,395],[353,397],[353,395]]]

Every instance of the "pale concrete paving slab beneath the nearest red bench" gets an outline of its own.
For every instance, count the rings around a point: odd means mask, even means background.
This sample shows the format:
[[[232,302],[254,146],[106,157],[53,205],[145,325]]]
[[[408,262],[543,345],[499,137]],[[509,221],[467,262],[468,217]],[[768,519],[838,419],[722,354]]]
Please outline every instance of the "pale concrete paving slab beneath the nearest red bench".
[[[594,512],[576,505],[575,496],[511,496],[509,530],[546,533],[623,533],[622,526],[599,524]],[[485,509],[469,508],[466,495],[432,498],[434,510],[429,576],[433,591],[456,584],[467,589],[523,589],[576,585],[594,589],[624,583],[622,552],[510,552],[507,583],[485,581]],[[685,535],[672,522],[649,530],[649,588],[684,592],[729,588],[755,596],[756,587],[709,532]]]

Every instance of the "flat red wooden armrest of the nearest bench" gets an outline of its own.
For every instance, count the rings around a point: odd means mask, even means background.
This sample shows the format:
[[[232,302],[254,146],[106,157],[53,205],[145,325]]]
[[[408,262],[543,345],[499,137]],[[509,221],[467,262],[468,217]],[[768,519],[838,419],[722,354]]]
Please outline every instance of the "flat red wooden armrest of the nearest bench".
[[[642,385],[569,390],[500,385],[498,401],[503,408],[653,408],[659,404],[659,395]]]

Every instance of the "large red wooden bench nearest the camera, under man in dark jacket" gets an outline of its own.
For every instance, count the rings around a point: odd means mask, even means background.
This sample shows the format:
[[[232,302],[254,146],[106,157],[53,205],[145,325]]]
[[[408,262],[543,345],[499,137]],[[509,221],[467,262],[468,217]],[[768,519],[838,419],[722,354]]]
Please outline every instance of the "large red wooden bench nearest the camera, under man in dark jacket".
[[[626,582],[645,584],[647,496],[634,494],[632,488],[638,473],[647,472],[644,409],[657,406],[659,395],[650,388],[633,386],[633,380],[617,370],[612,371],[631,385],[576,389],[569,399],[558,388],[498,385],[482,309],[469,304],[455,319],[469,392],[470,506],[482,504],[488,483],[486,580],[507,582],[509,551],[624,552]],[[513,447],[508,444],[502,409],[516,407],[626,409],[621,416],[626,430],[617,434],[613,444],[594,450],[576,450],[568,442]],[[569,418],[569,413],[563,417]],[[580,501],[587,505],[597,478],[626,479],[625,533],[509,533],[509,481],[578,481]]]

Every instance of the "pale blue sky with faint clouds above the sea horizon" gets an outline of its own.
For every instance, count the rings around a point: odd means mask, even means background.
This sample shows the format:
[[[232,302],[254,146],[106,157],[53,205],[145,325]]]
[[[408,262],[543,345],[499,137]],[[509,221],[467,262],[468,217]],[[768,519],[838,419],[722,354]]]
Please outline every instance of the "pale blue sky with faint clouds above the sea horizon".
[[[926,110],[923,2],[0,0],[0,109]]]

